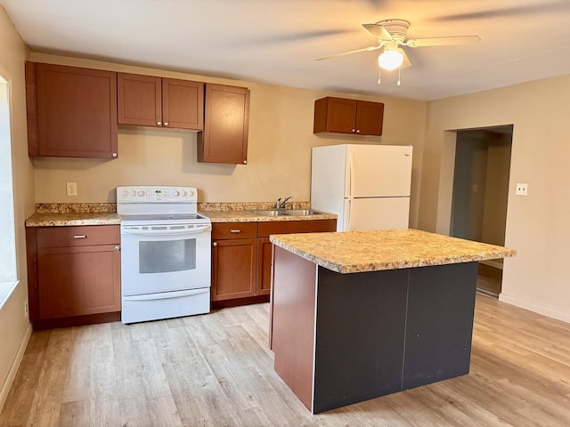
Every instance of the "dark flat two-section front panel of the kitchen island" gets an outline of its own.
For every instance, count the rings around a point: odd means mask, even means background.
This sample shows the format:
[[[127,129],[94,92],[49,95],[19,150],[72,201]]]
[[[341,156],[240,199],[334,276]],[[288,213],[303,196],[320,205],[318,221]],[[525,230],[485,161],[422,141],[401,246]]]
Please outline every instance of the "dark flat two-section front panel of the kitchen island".
[[[476,270],[319,267],[313,413],[468,374]]]

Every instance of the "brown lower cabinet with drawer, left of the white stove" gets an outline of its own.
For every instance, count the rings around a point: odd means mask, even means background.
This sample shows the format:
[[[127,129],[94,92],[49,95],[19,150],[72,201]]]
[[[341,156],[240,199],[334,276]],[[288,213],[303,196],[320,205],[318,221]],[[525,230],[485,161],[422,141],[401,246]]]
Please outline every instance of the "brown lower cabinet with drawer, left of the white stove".
[[[34,329],[120,319],[119,226],[26,229]]]

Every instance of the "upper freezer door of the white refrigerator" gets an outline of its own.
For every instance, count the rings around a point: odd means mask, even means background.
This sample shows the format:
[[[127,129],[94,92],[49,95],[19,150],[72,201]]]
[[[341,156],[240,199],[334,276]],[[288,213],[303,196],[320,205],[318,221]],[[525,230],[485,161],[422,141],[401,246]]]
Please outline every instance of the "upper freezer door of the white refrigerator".
[[[345,197],[406,197],[411,146],[348,145]]]

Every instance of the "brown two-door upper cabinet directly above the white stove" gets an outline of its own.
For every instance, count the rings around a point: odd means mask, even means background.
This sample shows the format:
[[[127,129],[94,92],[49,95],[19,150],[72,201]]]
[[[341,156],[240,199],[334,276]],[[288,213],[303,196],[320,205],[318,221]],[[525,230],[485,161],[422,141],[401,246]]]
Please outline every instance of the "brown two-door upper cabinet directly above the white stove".
[[[118,124],[204,127],[204,84],[166,77],[117,74]]]

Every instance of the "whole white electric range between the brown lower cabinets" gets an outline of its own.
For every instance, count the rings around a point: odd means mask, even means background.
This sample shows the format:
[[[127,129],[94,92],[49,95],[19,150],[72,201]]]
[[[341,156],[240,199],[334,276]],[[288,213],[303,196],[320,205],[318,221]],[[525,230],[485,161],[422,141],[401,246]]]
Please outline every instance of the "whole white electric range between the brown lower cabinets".
[[[117,188],[121,217],[121,321],[210,310],[210,220],[193,187]]]

